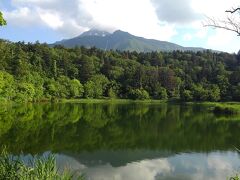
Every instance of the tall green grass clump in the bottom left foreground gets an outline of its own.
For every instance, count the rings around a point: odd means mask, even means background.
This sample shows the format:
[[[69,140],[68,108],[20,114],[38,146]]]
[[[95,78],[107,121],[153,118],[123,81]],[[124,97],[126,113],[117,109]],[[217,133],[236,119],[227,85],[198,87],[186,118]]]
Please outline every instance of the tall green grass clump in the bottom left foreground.
[[[83,180],[83,176],[75,177],[69,170],[60,173],[53,155],[36,158],[26,165],[19,158],[15,158],[6,151],[0,155],[0,180]]]

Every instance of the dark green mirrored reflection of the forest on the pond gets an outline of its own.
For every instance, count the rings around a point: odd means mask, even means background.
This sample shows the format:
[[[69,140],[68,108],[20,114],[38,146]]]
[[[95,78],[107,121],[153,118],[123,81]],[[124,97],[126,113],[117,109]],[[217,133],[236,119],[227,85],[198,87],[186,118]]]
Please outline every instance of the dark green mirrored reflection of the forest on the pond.
[[[218,120],[199,106],[28,104],[0,112],[0,145],[15,153],[210,151],[240,144],[239,121]]]

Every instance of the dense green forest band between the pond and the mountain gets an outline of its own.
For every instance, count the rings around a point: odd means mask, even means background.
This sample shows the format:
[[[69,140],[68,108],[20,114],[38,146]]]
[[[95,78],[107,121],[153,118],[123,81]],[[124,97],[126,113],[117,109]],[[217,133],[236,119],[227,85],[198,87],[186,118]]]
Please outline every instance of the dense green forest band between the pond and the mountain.
[[[240,53],[120,52],[0,41],[1,101],[239,101]]]

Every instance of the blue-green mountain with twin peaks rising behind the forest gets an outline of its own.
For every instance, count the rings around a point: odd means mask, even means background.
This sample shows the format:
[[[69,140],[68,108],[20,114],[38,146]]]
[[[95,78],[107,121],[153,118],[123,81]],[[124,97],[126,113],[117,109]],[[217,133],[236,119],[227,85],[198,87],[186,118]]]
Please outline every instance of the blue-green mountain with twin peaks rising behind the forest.
[[[203,48],[183,47],[167,41],[158,41],[154,39],[145,39],[134,36],[128,32],[117,30],[113,33],[91,29],[80,36],[72,39],[58,41],[52,45],[63,45],[65,47],[85,46],[87,48],[97,47],[104,50],[120,51],[202,51]]]

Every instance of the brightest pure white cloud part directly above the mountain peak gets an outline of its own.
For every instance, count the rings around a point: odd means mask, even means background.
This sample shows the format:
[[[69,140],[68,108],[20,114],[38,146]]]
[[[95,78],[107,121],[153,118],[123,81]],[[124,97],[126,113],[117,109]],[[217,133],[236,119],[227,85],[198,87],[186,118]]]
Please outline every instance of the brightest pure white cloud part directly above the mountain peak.
[[[94,21],[108,29],[161,40],[170,40],[176,34],[174,25],[160,24],[149,0],[87,0],[83,4]]]

